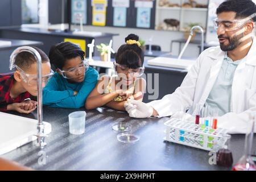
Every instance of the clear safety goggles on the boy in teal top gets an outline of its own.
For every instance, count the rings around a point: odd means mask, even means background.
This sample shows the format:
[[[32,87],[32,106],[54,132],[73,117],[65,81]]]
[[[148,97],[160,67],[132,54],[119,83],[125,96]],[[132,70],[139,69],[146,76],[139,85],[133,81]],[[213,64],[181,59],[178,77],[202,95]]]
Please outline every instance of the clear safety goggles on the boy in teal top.
[[[71,78],[75,78],[77,73],[84,73],[88,69],[89,69],[89,61],[83,60],[82,63],[76,65],[76,67],[69,68],[65,71],[59,69],[59,71],[64,78],[71,79]]]

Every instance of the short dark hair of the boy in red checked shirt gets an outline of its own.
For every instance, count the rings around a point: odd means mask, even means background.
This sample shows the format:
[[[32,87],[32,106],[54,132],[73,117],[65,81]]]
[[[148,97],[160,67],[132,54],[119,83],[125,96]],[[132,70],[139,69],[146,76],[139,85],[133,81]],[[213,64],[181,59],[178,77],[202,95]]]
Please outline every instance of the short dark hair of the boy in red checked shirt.
[[[36,49],[38,51],[39,55],[41,56],[42,63],[49,62],[49,58],[41,49],[38,47],[31,46],[32,48]],[[18,55],[15,57],[15,63],[18,67],[26,70],[27,68],[31,67],[31,64],[36,63],[35,56],[32,55],[32,53],[24,51],[18,53]]]

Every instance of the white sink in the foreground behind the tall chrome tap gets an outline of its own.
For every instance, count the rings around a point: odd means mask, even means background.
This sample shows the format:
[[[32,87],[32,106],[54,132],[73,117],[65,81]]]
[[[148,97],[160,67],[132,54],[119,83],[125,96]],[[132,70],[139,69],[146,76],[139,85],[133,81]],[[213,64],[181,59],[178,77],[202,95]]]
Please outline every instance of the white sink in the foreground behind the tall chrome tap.
[[[0,112],[0,155],[35,140],[36,119]],[[44,122],[45,134],[51,133],[51,124]]]

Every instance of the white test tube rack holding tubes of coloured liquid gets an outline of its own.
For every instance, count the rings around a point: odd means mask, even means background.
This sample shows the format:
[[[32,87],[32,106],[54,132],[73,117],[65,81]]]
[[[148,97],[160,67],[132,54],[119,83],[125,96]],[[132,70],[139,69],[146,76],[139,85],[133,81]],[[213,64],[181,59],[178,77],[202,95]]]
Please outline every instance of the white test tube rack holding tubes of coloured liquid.
[[[226,138],[223,137],[223,134],[228,133],[228,130],[220,127],[212,129],[205,125],[197,125],[191,121],[176,118],[168,120],[164,125],[166,126],[164,140],[207,151],[217,151],[224,147]]]

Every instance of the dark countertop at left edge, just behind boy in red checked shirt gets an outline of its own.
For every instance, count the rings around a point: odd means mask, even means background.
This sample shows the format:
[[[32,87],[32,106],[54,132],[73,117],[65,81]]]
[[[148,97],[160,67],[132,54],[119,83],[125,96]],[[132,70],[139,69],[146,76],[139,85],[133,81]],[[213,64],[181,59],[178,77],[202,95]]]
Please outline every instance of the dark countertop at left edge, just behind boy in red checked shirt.
[[[6,49],[14,49],[20,46],[41,46],[42,42],[31,41],[31,40],[15,40],[15,39],[0,39],[4,41],[11,41],[11,46],[0,46],[0,51]]]

